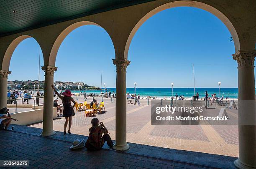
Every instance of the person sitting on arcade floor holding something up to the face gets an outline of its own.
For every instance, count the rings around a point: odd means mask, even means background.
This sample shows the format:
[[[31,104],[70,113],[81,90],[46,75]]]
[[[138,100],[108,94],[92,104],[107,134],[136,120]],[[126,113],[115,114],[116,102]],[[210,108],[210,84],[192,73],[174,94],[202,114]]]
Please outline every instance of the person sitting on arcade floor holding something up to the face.
[[[89,150],[99,150],[107,141],[108,146],[112,148],[113,142],[108,134],[108,129],[104,126],[104,124],[97,118],[93,118],[91,123],[92,127],[89,129],[90,133],[85,143],[85,147]],[[104,135],[102,136],[102,134]]]

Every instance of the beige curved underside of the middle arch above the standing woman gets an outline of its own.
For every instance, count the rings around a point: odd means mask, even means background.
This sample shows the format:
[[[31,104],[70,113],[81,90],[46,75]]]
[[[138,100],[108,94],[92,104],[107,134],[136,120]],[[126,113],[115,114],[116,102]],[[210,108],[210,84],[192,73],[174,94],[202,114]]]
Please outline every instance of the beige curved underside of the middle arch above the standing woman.
[[[55,66],[57,52],[59,50],[61,43],[67,37],[67,35],[69,35],[69,33],[72,32],[73,30],[75,30],[76,28],[84,26],[84,25],[96,25],[96,26],[102,27],[102,26],[98,25],[97,23],[90,22],[90,21],[80,21],[80,22],[73,23],[72,25],[69,25],[67,28],[65,28],[59,34],[59,36],[56,38],[56,40],[51,48],[51,52],[50,52],[50,56],[49,56],[49,66]],[[104,30],[106,31],[106,29],[104,29]],[[111,38],[111,36],[110,36],[110,38]],[[111,40],[112,40],[112,38],[111,38]]]

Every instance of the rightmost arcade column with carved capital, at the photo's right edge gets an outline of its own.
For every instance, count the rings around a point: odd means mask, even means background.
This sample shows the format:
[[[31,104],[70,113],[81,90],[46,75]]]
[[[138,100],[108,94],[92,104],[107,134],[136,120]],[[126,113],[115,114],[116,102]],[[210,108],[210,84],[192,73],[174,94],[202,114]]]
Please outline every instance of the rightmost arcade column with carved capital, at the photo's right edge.
[[[254,60],[256,50],[238,51],[233,59],[238,62],[238,138],[240,169],[256,167],[256,102]]]

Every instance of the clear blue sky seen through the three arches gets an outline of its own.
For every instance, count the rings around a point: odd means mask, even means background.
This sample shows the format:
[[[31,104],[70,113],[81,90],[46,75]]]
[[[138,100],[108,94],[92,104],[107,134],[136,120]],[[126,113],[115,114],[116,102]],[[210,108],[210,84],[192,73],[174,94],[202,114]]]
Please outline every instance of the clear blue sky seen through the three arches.
[[[237,87],[234,43],[217,17],[194,7],[175,7],[149,18],[136,32],[128,52],[127,87]],[[38,79],[39,45],[33,38],[15,49],[9,80]],[[62,42],[54,81],[85,82],[115,87],[113,43],[104,29],[86,25],[72,31]],[[41,66],[43,57],[41,53]],[[44,72],[40,70],[40,79]]]

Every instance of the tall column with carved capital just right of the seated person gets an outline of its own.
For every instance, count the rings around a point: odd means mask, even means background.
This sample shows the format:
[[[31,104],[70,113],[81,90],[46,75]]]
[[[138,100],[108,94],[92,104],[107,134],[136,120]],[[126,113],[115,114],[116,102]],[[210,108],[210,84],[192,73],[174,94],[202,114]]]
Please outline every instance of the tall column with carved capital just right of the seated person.
[[[125,151],[129,149],[126,142],[126,68],[130,64],[127,59],[113,59],[116,65],[116,102],[115,102],[115,145],[113,149]]]

